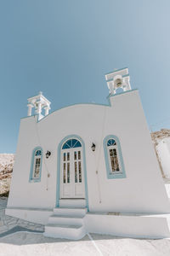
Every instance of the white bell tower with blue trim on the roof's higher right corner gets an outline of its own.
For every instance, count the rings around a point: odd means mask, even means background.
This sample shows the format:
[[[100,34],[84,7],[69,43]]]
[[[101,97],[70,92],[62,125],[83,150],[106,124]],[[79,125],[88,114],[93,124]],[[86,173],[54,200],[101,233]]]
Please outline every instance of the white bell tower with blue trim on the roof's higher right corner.
[[[131,90],[128,68],[116,69],[111,73],[105,74],[105,80],[109,88],[110,95],[115,95],[118,88],[123,91]]]

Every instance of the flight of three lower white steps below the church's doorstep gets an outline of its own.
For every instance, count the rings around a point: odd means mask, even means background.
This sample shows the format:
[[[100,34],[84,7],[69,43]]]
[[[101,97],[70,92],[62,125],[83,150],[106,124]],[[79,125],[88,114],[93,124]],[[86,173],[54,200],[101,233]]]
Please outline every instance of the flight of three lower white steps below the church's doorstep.
[[[84,225],[86,212],[86,207],[54,208],[43,235],[54,238],[81,239],[86,235]]]

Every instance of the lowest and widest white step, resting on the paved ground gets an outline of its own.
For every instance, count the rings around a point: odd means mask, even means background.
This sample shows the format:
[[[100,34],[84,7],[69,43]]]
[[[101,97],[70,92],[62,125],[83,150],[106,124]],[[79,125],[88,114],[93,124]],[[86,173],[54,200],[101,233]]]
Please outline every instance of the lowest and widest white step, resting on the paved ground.
[[[48,224],[43,235],[78,240],[86,235],[86,231],[82,225]]]

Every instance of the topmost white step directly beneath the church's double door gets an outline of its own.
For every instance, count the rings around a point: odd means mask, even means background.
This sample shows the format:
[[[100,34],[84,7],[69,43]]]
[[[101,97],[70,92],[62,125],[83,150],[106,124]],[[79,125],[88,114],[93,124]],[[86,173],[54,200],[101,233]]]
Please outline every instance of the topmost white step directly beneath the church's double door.
[[[85,199],[60,199],[59,207],[86,207]]]

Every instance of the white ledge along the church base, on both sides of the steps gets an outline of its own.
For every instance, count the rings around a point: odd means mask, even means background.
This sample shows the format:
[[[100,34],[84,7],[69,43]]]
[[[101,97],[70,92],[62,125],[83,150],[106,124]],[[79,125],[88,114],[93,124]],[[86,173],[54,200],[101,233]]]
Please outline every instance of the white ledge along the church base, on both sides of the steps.
[[[5,213],[9,216],[46,225],[53,210],[7,208]],[[86,233],[150,239],[170,237],[170,214],[87,212],[83,220]]]

